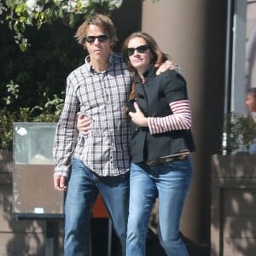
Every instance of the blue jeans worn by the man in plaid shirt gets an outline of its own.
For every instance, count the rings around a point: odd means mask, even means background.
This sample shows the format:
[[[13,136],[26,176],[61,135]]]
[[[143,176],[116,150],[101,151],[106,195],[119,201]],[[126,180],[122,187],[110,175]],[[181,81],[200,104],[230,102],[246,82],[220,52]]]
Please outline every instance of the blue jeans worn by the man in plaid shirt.
[[[98,194],[102,196],[125,252],[129,173],[117,177],[99,177],[81,160],[73,160],[65,201],[65,256],[88,255],[87,227]]]

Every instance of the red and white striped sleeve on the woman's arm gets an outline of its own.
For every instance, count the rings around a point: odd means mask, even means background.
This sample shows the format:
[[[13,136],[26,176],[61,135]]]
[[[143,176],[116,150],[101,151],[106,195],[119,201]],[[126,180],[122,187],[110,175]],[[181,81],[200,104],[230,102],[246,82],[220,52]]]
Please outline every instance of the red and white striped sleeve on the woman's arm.
[[[186,130],[191,128],[192,118],[189,100],[170,103],[172,114],[165,117],[148,117],[150,134],[163,133],[173,130]]]

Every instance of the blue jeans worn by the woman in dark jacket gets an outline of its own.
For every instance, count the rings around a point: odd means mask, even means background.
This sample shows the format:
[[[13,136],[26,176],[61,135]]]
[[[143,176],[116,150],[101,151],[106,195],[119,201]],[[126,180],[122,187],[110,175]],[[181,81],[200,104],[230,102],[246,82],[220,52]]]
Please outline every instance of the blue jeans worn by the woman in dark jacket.
[[[179,236],[183,204],[192,180],[189,156],[165,164],[131,164],[127,256],[144,256],[150,213],[159,198],[160,244],[168,256],[188,256]]]

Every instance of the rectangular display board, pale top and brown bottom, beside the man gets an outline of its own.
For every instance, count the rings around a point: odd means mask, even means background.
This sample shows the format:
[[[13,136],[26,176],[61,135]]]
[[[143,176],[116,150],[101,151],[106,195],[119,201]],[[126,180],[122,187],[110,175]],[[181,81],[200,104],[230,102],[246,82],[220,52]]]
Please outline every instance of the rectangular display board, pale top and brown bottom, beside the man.
[[[55,191],[55,123],[14,123],[13,213],[18,218],[62,218],[64,193]]]

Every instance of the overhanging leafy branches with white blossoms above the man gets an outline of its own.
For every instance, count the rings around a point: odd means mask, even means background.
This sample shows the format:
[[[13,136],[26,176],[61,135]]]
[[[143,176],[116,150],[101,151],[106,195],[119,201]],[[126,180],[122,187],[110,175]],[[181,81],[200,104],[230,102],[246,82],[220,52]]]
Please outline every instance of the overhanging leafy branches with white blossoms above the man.
[[[0,2],[0,23],[8,22],[15,32],[15,43],[26,51],[28,41],[25,36],[27,27],[53,24],[61,20],[73,27],[81,17],[96,12],[109,15],[113,9],[119,9],[122,0],[6,0]]]

